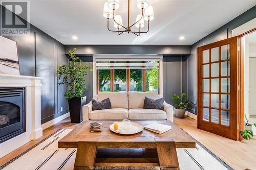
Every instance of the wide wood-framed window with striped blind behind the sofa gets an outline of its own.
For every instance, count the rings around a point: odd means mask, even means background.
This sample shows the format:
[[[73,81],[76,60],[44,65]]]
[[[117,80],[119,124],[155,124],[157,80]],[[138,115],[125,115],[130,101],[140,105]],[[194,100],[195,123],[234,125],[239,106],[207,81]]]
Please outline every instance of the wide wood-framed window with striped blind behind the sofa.
[[[160,57],[96,58],[98,91],[158,92]],[[152,58],[152,59],[151,59]]]

